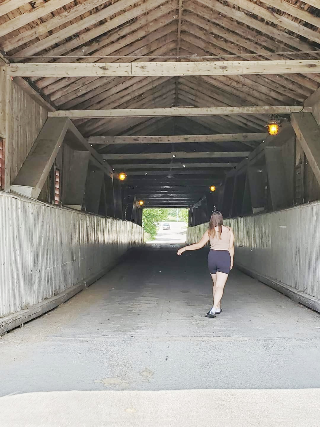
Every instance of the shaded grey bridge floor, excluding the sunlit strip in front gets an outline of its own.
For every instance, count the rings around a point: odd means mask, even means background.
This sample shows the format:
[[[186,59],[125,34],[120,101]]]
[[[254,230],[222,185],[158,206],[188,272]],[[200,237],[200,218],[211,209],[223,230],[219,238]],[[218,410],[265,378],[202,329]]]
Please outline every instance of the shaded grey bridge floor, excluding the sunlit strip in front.
[[[207,250],[176,250],[136,249],[87,290],[3,336],[1,396],[320,388],[319,314],[233,270],[223,313],[207,319]]]

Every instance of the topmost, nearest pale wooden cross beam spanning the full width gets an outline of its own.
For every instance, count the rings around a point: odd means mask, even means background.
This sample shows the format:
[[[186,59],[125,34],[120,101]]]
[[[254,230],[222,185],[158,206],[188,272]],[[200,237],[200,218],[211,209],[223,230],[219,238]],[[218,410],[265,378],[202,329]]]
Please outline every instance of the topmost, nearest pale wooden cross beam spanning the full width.
[[[121,0],[120,0],[121,1]],[[118,4],[117,2],[116,4]],[[320,60],[11,64],[13,77],[221,76],[319,73]]]

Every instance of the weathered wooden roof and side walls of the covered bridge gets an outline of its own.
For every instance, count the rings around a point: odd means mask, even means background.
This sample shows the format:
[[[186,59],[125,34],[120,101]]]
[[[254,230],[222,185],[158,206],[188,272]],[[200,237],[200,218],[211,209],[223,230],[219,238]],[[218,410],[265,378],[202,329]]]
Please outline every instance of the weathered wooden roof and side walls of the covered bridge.
[[[319,0],[0,0],[0,333],[143,246],[144,208],[188,243],[220,210],[235,265],[320,311],[319,87]]]

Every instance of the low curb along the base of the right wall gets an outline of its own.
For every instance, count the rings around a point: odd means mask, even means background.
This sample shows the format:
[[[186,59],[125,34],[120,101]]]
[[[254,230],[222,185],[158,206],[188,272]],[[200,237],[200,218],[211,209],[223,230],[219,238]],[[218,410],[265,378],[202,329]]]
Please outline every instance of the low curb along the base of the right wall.
[[[305,307],[311,308],[311,310],[314,310],[320,313],[320,300],[318,298],[314,298],[311,295],[306,295],[305,293],[299,292],[298,290],[292,288],[291,286],[282,284],[256,271],[249,270],[246,267],[242,266],[241,264],[235,264],[235,267],[238,270],[247,274],[248,276],[251,276],[254,279],[257,279],[260,282],[288,296],[293,301],[298,302],[299,304],[303,304],[305,305]]]

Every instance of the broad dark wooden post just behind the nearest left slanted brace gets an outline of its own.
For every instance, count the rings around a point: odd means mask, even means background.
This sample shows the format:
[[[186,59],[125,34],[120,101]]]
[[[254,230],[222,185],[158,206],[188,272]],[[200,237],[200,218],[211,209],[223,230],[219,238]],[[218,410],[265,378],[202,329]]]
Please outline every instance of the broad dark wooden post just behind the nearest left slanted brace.
[[[73,209],[82,208],[90,152],[74,151],[64,155],[62,204]]]

